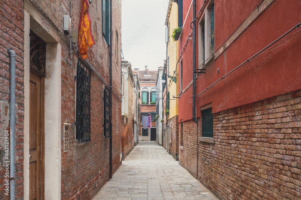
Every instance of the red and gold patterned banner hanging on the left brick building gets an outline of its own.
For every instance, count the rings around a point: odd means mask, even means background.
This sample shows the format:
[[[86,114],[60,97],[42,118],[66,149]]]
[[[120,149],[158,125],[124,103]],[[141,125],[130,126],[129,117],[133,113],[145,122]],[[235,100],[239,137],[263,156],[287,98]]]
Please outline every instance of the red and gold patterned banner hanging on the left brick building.
[[[82,0],[82,8],[78,26],[79,57],[82,55],[82,59],[88,58],[87,52],[89,46],[91,47],[95,45],[91,30],[91,19],[88,12],[89,6],[90,4],[88,0]]]

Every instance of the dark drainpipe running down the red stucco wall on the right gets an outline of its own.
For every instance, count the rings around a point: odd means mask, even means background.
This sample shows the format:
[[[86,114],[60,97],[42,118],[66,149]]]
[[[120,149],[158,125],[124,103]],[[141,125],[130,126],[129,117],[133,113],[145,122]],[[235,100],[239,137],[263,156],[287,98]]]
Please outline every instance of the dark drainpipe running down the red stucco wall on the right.
[[[196,0],[193,0],[193,19],[196,18]],[[197,123],[197,118],[196,118],[196,108],[195,108],[195,89],[196,89],[196,74],[194,73],[195,71],[195,57],[196,57],[196,20],[193,21],[193,30],[192,30],[192,119],[195,123]]]

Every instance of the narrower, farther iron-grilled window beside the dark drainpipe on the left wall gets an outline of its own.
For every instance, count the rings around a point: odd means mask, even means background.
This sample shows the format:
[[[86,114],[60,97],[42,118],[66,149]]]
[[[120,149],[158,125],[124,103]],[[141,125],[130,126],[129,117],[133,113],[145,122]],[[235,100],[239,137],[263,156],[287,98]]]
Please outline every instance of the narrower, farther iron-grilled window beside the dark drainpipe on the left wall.
[[[104,137],[109,138],[111,133],[110,127],[110,95],[109,89],[104,88]]]

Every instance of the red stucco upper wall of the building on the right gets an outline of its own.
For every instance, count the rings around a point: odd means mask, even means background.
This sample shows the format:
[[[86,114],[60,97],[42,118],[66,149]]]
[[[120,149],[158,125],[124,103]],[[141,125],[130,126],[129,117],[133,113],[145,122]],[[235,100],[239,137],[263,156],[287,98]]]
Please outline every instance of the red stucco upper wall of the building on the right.
[[[207,1],[208,2],[208,1]],[[215,48],[217,49],[235,28],[248,16],[258,1],[215,1]],[[186,5],[187,4],[187,5]],[[188,5],[189,4],[189,5]],[[197,12],[203,1],[197,1]],[[189,9],[190,2],[184,3],[183,20]],[[298,0],[273,1],[244,31],[240,37],[234,40],[230,46],[217,57],[208,67],[205,74],[197,77],[196,94],[206,89],[226,73],[246,61],[259,52],[272,41],[301,22],[299,10],[301,2]],[[200,14],[202,15],[202,14]],[[183,34],[179,40],[179,53],[186,42],[192,29],[189,27],[192,21],[192,8],[183,28]],[[298,30],[293,31],[291,34]],[[283,44],[293,39],[296,33]],[[198,35],[198,29],[197,29]],[[290,35],[290,34],[289,34]],[[289,36],[288,35],[288,36]],[[192,35],[191,35],[192,37]],[[285,38],[285,37],[284,37]],[[213,112],[219,112],[247,103],[252,103],[268,97],[277,96],[290,91],[301,89],[299,63],[301,37],[285,43],[277,49],[270,49],[258,58],[250,61],[237,73],[228,79],[210,88],[196,99],[197,117],[200,116],[200,107],[212,102]],[[279,45],[280,45],[279,44]],[[277,46],[279,46],[277,45]],[[197,37],[198,55],[198,37]],[[183,52],[183,88],[192,80],[192,40]],[[198,57],[196,58],[198,66]],[[219,74],[217,69],[219,68]],[[186,121],[192,117],[192,85],[179,99],[179,121]]]

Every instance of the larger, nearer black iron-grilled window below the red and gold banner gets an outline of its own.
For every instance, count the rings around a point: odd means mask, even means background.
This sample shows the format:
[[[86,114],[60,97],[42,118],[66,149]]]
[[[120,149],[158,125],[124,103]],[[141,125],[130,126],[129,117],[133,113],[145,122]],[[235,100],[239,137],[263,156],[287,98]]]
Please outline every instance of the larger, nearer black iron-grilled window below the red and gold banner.
[[[76,74],[76,139],[82,143],[91,141],[91,69],[80,58]]]

